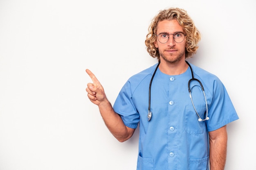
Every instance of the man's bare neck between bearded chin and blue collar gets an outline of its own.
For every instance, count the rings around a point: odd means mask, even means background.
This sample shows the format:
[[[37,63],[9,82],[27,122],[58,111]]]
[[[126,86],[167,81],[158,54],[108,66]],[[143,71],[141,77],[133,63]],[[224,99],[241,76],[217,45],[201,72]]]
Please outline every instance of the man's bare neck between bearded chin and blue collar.
[[[167,63],[165,61],[161,61],[159,65],[159,70],[168,75],[179,75],[188,69],[188,65],[185,60],[179,61],[177,63]]]

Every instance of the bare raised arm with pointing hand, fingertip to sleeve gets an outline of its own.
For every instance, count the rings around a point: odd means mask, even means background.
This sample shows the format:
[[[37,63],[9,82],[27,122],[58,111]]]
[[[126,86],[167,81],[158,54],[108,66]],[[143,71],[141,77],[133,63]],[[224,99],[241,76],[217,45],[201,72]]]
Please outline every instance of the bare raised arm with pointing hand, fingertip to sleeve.
[[[86,92],[92,103],[98,105],[101,116],[109,131],[119,142],[124,142],[132,137],[135,129],[125,126],[121,117],[115,113],[111,103],[108,101],[104,89],[94,74],[86,69],[93,83],[88,83]]]

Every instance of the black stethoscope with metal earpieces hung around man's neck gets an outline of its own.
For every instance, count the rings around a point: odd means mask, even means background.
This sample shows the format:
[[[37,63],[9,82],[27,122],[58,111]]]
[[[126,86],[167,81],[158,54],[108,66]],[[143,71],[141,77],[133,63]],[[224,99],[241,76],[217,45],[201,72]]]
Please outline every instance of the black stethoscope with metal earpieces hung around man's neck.
[[[191,78],[191,79],[189,80],[189,82],[188,82],[189,97],[190,97],[190,99],[191,99],[191,102],[192,102],[193,108],[194,108],[194,110],[195,110],[195,113],[196,113],[197,116],[198,116],[198,121],[201,122],[201,121],[209,120],[209,117],[208,117],[208,105],[207,105],[207,99],[206,99],[206,96],[205,96],[205,93],[204,93],[204,87],[203,87],[202,83],[201,83],[198,79],[194,78],[193,70],[192,70],[191,65],[189,64],[189,62],[186,61],[186,63],[189,65],[189,68],[190,68],[191,74],[192,74],[192,78]],[[148,92],[148,121],[150,121],[150,119],[152,118],[152,112],[150,111],[151,84],[152,84],[153,78],[154,78],[154,76],[155,76],[155,73],[157,72],[157,68],[159,67],[159,64],[160,64],[160,61],[159,61],[159,63],[157,64],[157,67],[155,68],[155,71],[154,71],[153,76],[152,76],[152,78],[151,78],[151,81],[150,81],[150,83],[149,83],[149,92]],[[195,105],[194,105],[194,102],[193,102],[193,99],[192,99],[191,89],[190,89],[190,82],[191,82],[191,81],[198,81],[198,83],[201,85],[201,88],[202,88],[202,91],[203,91],[203,94],[204,94],[205,105],[206,105],[206,117],[205,117],[204,119],[202,119],[202,118],[199,116],[198,111],[195,109]]]

